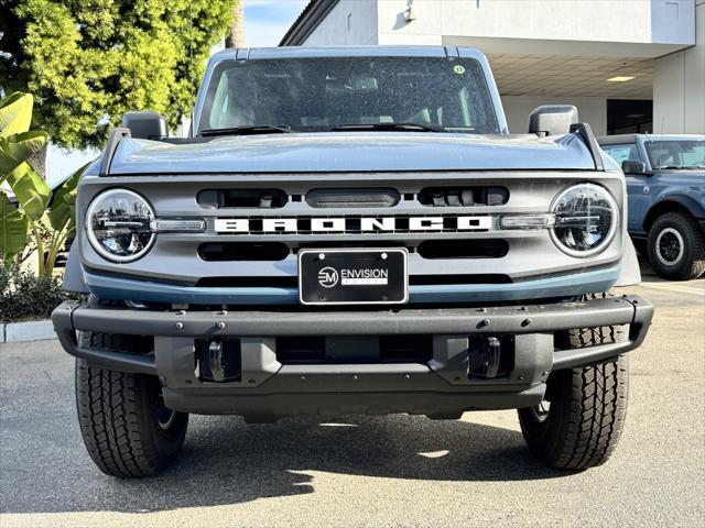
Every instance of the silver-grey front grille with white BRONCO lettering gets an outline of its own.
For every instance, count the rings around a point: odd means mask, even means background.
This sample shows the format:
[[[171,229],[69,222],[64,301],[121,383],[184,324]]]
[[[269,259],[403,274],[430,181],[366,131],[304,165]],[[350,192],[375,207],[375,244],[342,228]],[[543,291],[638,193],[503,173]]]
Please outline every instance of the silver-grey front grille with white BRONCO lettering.
[[[444,296],[469,304],[509,299],[516,288],[492,285],[609,271],[620,256],[620,234],[599,255],[578,262],[556,248],[549,229],[503,229],[500,224],[505,216],[550,211],[555,196],[574,183],[595,182],[621,202],[623,183],[616,173],[204,173],[109,179],[84,178],[82,215],[98,193],[124,186],[144,196],[160,218],[203,219],[206,228],[160,233],[152,251],[129,266],[106,262],[82,241],[87,249],[84,264],[96,274],[212,288],[203,297],[194,295],[193,304],[199,306],[259,304],[260,298],[268,304],[295,304],[301,249],[405,248],[412,304],[444,302]],[[412,218],[416,220],[410,227]],[[223,228],[223,220],[232,219],[236,226]],[[272,232],[268,222],[270,229],[264,230],[265,219],[286,219],[295,222],[295,229]],[[314,219],[315,230],[311,229]],[[328,230],[321,224],[324,219],[346,223],[341,231]],[[252,290],[246,296],[217,288]],[[543,295],[528,286],[527,292]]]

